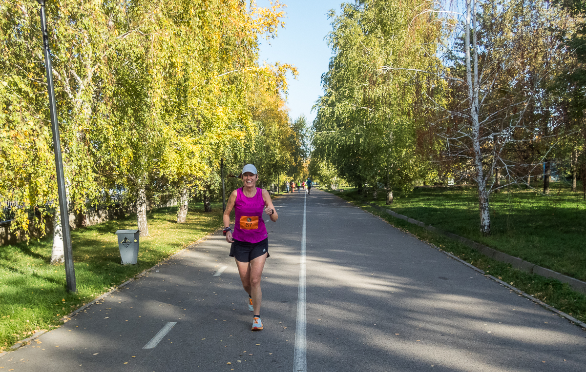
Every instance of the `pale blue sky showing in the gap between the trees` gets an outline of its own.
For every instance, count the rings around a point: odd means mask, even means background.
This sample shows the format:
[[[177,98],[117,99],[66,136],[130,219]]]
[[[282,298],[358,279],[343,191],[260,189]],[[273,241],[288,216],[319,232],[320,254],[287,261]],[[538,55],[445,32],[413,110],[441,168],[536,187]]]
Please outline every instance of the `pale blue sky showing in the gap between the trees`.
[[[347,1],[347,0],[346,0]],[[285,29],[279,29],[277,37],[260,46],[260,60],[267,63],[290,63],[297,67],[299,75],[293,80],[289,75],[287,106],[289,116],[295,120],[305,115],[311,125],[315,111],[311,112],[316,99],[323,94],[322,74],[328,71],[332,51],[324,37],[332,30],[328,19],[329,9],[339,14],[342,0],[282,0],[287,4]],[[269,0],[257,0],[257,5],[267,7]]]

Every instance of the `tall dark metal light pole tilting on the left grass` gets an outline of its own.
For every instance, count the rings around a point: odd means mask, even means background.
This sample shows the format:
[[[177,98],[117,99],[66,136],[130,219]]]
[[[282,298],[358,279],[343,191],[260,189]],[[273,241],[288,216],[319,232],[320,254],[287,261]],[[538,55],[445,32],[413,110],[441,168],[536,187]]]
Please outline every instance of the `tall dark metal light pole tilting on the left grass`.
[[[70,292],[76,292],[75,268],[73,267],[71,232],[69,229],[69,209],[67,208],[65,177],[63,175],[63,159],[61,157],[61,141],[59,140],[59,124],[57,123],[57,108],[55,105],[55,90],[53,87],[53,71],[51,67],[51,55],[49,51],[49,33],[47,32],[47,18],[45,16],[45,0],[37,0],[37,2],[40,5],[40,25],[43,31],[43,50],[45,51],[47,88],[49,88],[49,109],[51,113],[51,128],[53,129],[53,146],[55,147],[55,167],[57,168],[57,191],[59,192],[59,209],[61,211],[61,228],[63,230],[65,277],[67,280],[67,290]]]

